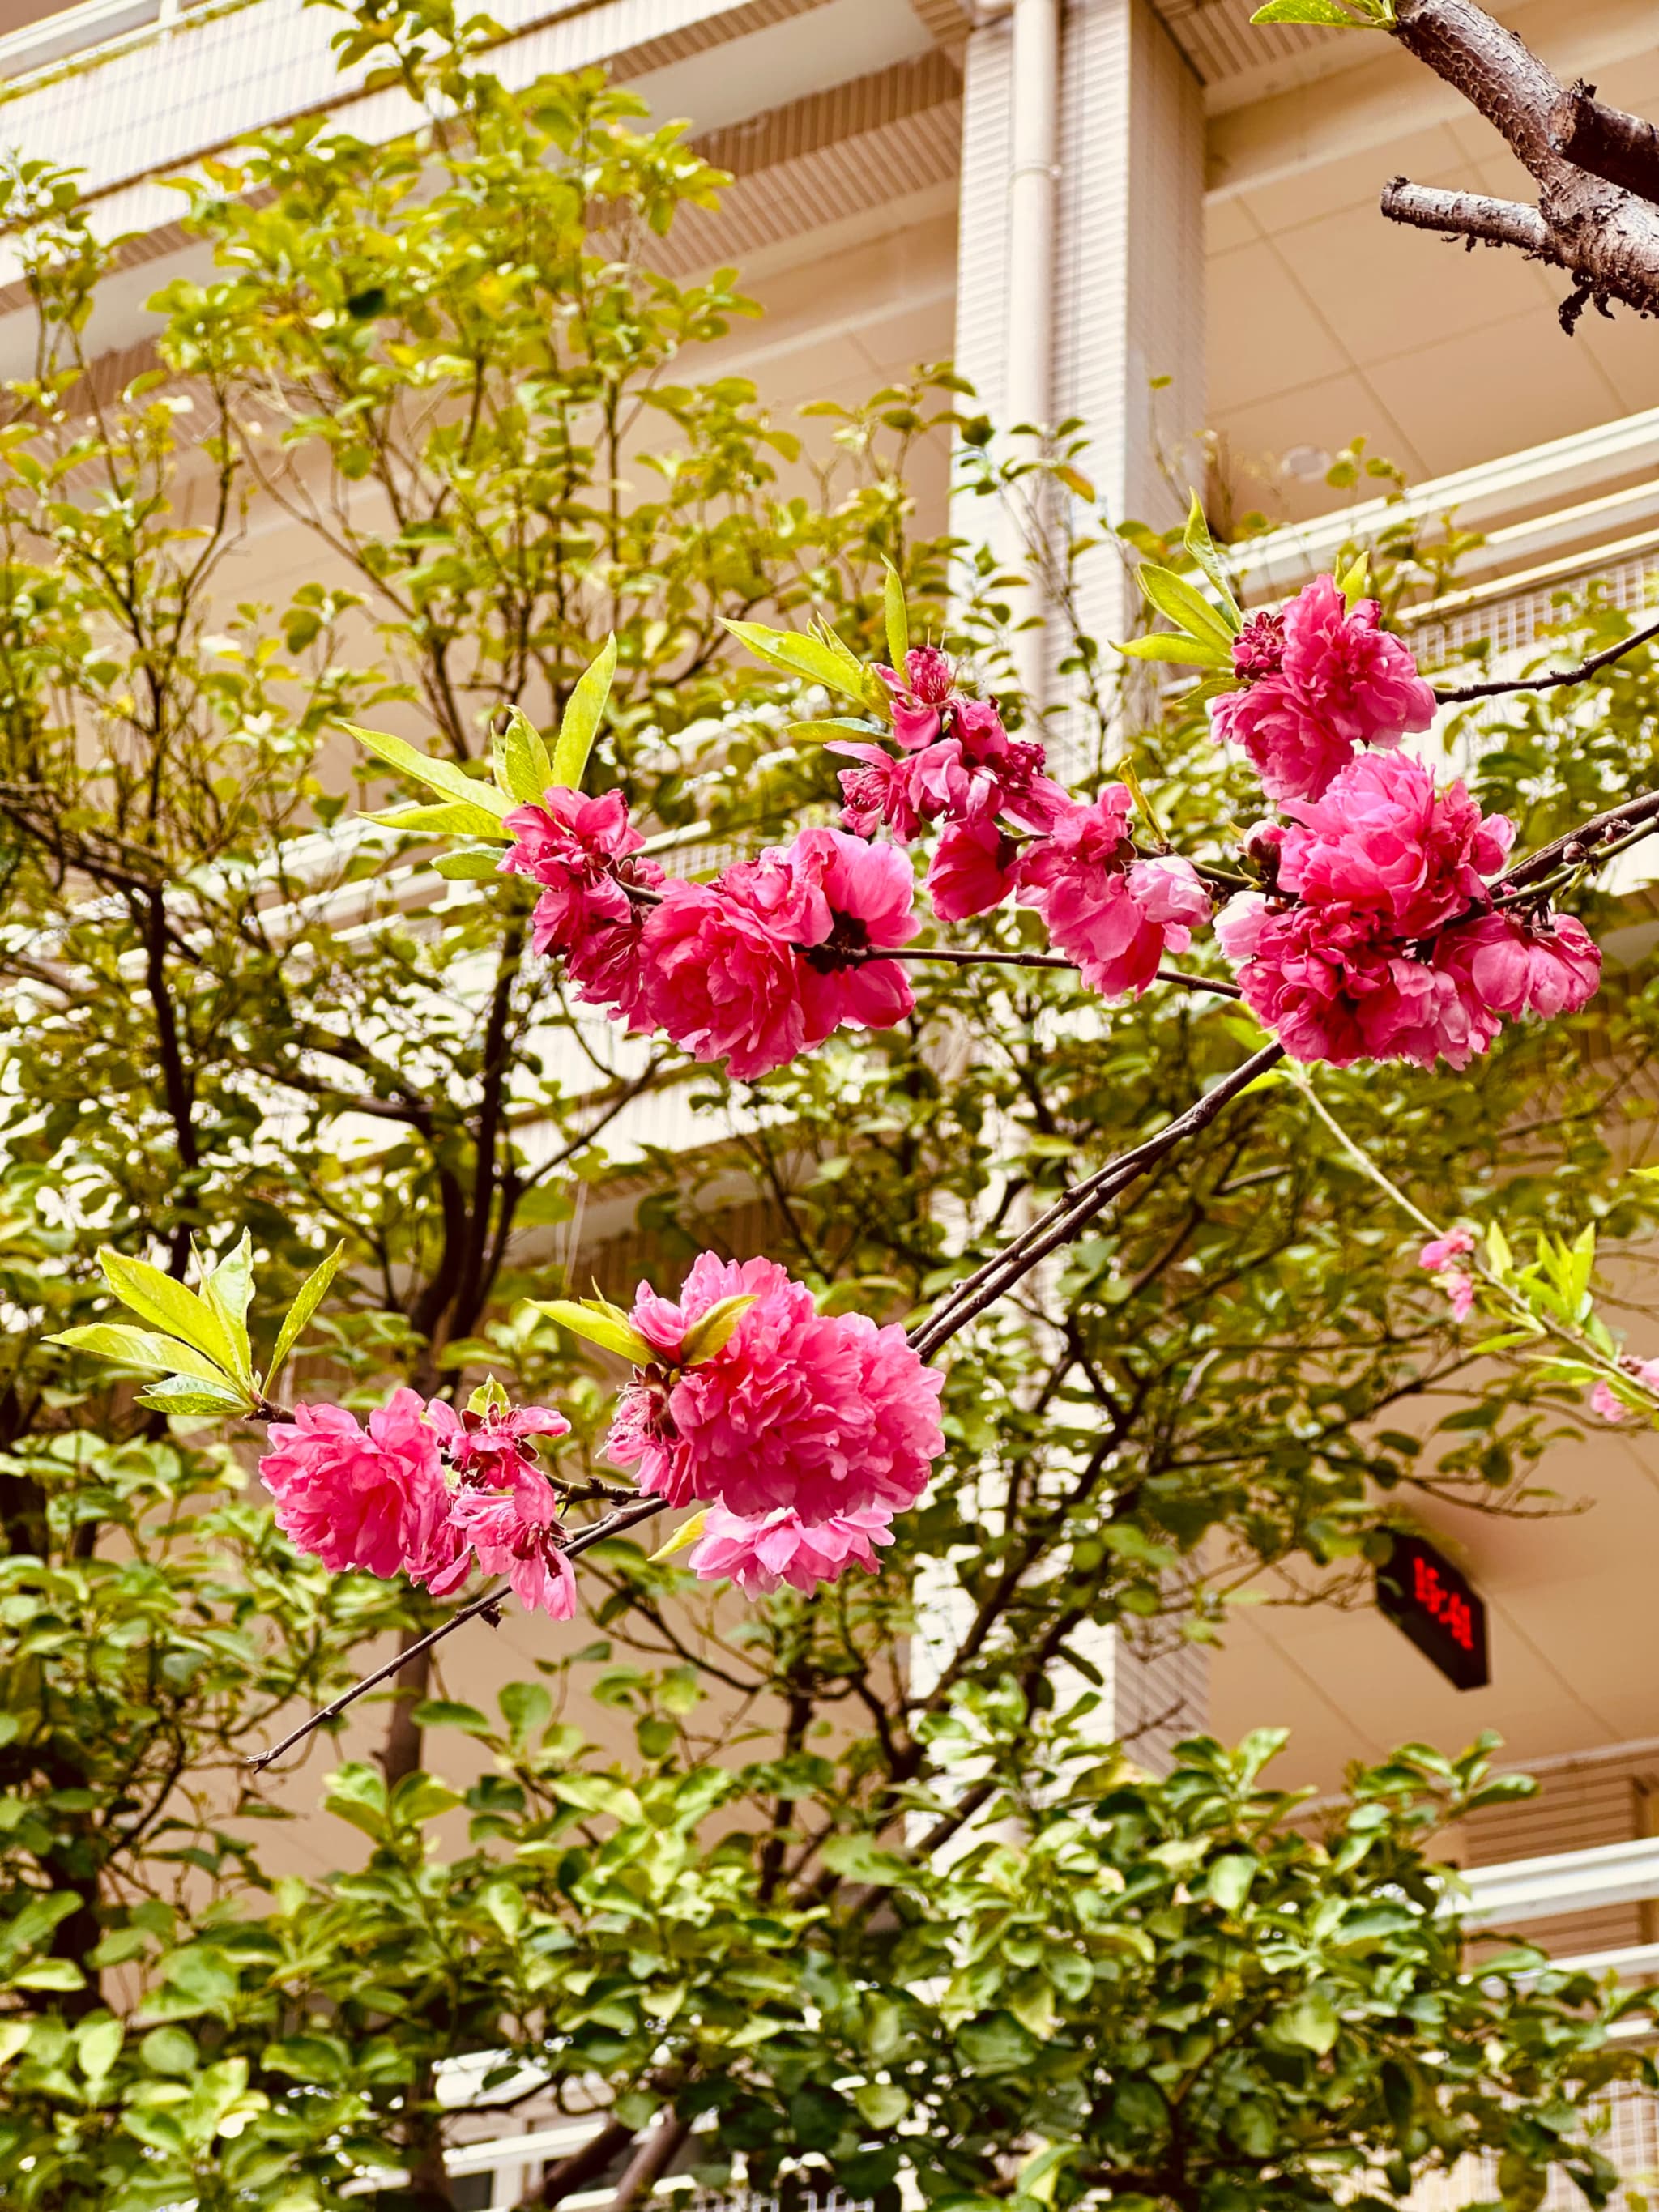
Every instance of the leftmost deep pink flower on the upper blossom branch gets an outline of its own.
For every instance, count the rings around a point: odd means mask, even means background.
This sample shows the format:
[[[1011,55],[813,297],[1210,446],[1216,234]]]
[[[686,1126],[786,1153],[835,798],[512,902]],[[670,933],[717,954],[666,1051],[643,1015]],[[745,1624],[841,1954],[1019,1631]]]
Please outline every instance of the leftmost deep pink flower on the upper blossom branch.
[[[622,792],[584,799],[555,785],[540,805],[513,807],[504,827],[513,845],[502,874],[542,885],[531,918],[535,951],[564,956],[584,1004],[617,1006],[633,1018],[644,916],[624,885],[655,889],[664,872],[655,860],[633,858],[644,838],[628,823]]]

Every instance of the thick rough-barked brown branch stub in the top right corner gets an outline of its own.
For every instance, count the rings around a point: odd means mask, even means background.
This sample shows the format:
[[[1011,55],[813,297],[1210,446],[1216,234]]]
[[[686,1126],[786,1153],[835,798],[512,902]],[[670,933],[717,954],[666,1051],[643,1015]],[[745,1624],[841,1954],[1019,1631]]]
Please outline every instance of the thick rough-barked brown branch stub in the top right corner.
[[[1473,0],[1398,0],[1394,38],[1502,133],[1537,184],[1537,208],[1396,179],[1383,215],[1566,270],[1568,332],[1590,303],[1659,314],[1659,204],[1648,197],[1659,192],[1659,131],[1604,108],[1590,86],[1562,86]]]

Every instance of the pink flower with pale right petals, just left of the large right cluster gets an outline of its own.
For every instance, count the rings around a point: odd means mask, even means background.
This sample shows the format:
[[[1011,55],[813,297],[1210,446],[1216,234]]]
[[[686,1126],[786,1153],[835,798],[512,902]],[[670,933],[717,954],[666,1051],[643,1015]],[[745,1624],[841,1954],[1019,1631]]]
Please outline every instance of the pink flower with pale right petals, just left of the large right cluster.
[[[1042,914],[1055,949],[1106,998],[1144,991],[1166,945],[1186,951],[1192,925],[1210,911],[1190,860],[1137,863],[1128,812],[1128,790],[1108,783],[1020,856],[1020,905]]]

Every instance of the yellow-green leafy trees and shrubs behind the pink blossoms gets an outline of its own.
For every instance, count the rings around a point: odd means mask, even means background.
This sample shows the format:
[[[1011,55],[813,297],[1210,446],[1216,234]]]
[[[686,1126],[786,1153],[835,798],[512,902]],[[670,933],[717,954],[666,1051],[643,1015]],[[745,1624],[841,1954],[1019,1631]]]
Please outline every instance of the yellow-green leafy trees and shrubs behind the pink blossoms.
[[[697,867],[830,816],[816,748],[887,726],[880,653],[936,637],[998,686],[1015,577],[918,535],[907,491],[953,427],[969,498],[1044,473],[1077,564],[1135,546],[1199,668],[1241,619],[1201,515],[1108,526],[1079,425],[998,460],[947,372],[818,409],[807,471],[741,378],[699,380],[748,314],[734,272],[653,268],[719,179],[597,77],[509,93],[487,38],[440,0],[349,18],[343,60],[442,119],[374,146],[305,117],[217,164],[186,201],[212,270],[161,294],[161,365],[91,420],[104,257],[62,179],[11,186],[40,369],[0,425],[9,2203],[321,2212],[387,2168],[436,2192],[436,2068],[478,2053],[597,2077],[628,2128],[672,2104],[710,2177],[803,2163],[883,2208],[900,2170],[951,2212],[1352,2203],[1478,2146],[1517,2208],[1551,2166],[1597,2201],[1584,2104],[1644,2073],[1615,2000],[1464,1978],[1431,1909],[1429,1838],[1495,1787],[1480,1759],[1411,1750],[1298,1820],[1265,1739],[1199,1741],[1166,1783],[1088,1741],[1086,1632],[1217,1641],[1267,1566],[1343,1601],[1420,1498],[1537,1504],[1571,1396],[1524,1360],[1493,1385],[1394,1201],[1279,1079],[958,1345],[949,1462],[880,1577],[739,1613],[684,1571],[690,1524],[599,1546],[595,1641],[493,1714],[420,1683],[385,1759],[327,1785],[352,1871],[270,1887],[268,1823],[319,1792],[248,1752],[431,1610],[296,1559],[210,1413],[279,1374],[290,1400],[555,1396],[582,1513],[606,1356],[641,1349],[573,1259],[639,1060],[529,951],[502,814],[549,779],[622,790]],[[323,577],[283,606],[234,597],[268,500]],[[1385,606],[1440,557],[1407,524],[1374,555]],[[1595,606],[1593,641],[1619,622]],[[1150,695],[1106,659],[1071,630],[1064,717],[1009,692],[1011,719],[1223,865],[1250,790],[1206,686],[1155,701],[1130,765]],[[416,737],[365,737],[365,765],[330,737],[365,721]],[[1648,659],[1484,730],[1478,792],[1528,841],[1659,781]],[[975,936],[1035,942],[1022,911]],[[1104,1013],[1066,975],[989,975],[922,967],[909,1024],[761,1086],[648,1064],[703,1135],[628,1161],[659,1287],[763,1243],[827,1310],[914,1312],[1259,1042],[1183,993]],[[1566,1296],[1586,1219],[1604,1250],[1650,1225],[1608,1121],[1657,1015],[1615,975],[1467,1077],[1321,1095]],[[942,1617],[967,1628],[922,1686]]]

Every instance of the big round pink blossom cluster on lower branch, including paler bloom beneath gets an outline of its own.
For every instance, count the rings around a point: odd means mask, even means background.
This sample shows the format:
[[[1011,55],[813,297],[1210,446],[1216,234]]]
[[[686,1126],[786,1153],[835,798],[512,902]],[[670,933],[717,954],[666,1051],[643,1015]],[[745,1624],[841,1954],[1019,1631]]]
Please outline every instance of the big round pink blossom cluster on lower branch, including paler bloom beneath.
[[[750,1296],[730,1338],[686,1365],[686,1336]],[[821,1314],[770,1259],[703,1252],[679,1303],[641,1285],[630,1321],[657,1358],[635,1369],[606,1440],[641,1491],[710,1520],[692,1564],[743,1588],[834,1582],[874,1566],[894,1513],[916,1504],[945,1449],[942,1376],[896,1325]]]

